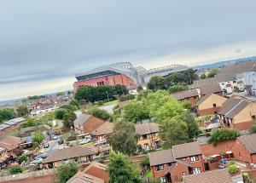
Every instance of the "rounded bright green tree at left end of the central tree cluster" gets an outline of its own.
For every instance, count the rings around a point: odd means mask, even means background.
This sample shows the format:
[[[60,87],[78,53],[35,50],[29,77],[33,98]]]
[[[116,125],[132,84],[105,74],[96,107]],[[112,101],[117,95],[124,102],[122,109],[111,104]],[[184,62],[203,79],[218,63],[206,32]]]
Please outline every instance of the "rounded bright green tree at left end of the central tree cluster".
[[[144,106],[143,101],[133,100],[125,106],[124,117],[129,122],[137,123],[149,118],[149,112],[146,106]]]

